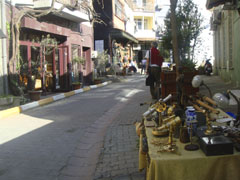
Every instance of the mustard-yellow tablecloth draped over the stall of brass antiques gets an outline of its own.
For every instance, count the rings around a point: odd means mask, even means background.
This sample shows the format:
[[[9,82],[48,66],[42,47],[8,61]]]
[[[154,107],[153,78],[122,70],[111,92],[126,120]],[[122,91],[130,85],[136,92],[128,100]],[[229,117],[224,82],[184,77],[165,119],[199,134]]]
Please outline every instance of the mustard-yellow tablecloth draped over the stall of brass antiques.
[[[149,158],[139,152],[139,169],[147,169],[147,180],[240,180],[240,153],[205,156],[201,149],[184,150],[185,144],[176,140],[178,153],[160,153],[152,129],[146,127]],[[141,138],[140,138],[141,139]],[[141,143],[140,143],[141,149]]]

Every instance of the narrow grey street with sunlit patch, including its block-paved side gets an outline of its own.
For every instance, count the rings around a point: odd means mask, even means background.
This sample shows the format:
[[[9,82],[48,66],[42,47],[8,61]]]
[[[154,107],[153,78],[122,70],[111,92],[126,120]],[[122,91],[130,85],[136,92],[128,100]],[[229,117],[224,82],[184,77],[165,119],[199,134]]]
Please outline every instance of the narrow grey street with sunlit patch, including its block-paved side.
[[[137,136],[150,101],[145,77],[0,120],[0,180],[92,180],[138,173]]]

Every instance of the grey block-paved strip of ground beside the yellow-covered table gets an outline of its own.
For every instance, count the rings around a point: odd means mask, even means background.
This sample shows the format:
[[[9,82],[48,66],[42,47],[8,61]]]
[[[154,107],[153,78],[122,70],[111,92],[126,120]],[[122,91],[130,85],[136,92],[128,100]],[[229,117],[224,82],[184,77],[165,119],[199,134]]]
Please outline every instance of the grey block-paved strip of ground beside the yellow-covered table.
[[[136,94],[125,105],[126,111],[108,127],[99,156],[94,180],[144,180],[145,173],[138,170],[138,136],[134,122],[141,120],[150,101],[148,87]]]

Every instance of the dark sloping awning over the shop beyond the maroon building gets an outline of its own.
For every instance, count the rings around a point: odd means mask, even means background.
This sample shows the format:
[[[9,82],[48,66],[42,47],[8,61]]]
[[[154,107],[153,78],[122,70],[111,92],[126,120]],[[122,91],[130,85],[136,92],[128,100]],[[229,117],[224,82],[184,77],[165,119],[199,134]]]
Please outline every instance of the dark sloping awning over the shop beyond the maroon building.
[[[132,41],[133,43],[138,43],[138,40],[134,36],[120,29],[110,30],[110,35],[113,39],[116,39],[122,42],[127,43],[129,41]]]

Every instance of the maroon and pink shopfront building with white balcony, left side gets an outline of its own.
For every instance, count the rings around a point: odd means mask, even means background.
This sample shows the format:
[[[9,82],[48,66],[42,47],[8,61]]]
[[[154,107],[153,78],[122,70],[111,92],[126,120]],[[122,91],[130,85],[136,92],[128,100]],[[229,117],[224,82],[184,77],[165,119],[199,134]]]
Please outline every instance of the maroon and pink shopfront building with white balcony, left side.
[[[53,7],[52,13],[38,18],[26,16],[21,20],[19,52],[21,63],[27,63],[29,69],[34,62],[39,62],[42,88],[47,83],[49,91],[71,90],[72,81],[82,81],[91,84],[93,62],[93,27],[90,23],[88,12],[78,3],[81,1],[56,0],[28,0],[8,2],[6,12],[16,16],[24,3],[33,10],[44,10]],[[85,1],[89,3],[90,1]],[[7,21],[12,21],[11,14]],[[46,53],[42,47],[43,38],[50,37],[57,41],[51,52]],[[49,44],[51,46],[51,44]],[[74,64],[74,59],[82,57],[85,62]],[[15,65],[16,66],[16,65]]]

